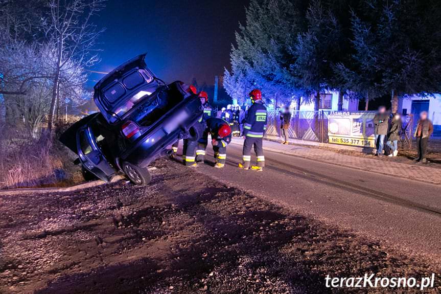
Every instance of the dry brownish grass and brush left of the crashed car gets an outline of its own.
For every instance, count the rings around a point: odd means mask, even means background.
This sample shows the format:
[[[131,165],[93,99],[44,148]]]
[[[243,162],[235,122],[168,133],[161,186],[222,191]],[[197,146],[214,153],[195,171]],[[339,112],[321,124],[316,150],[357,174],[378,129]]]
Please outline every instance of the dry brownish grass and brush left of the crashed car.
[[[0,129],[0,189],[71,184],[75,169],[57,142],[32,139],[19,128]],[[66,168],[67,167],[67,168]]]

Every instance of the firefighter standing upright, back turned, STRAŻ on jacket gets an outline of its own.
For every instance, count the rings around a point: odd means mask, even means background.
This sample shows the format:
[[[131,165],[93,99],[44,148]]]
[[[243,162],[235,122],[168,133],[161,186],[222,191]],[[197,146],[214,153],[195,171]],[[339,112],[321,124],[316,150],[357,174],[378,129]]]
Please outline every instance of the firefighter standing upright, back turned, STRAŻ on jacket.
[[[252,170],[262,171],[265,166],[265,156],[263,155],[262,141],[266,130],[266,107],[262,101],[262,93],[259,89],[254,89],[249,93],[252,105],[248,109],[247,116],[243,125],[245,141],[243,143],[242,163],[240,168],[248,170],[251,165],[251,148],[257,156],[257,166],[251,166]]]

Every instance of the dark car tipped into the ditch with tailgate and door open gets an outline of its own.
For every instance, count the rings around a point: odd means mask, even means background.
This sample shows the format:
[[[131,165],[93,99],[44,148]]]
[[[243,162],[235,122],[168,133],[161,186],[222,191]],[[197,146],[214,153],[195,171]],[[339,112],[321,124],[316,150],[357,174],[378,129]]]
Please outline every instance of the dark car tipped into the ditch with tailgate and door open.
[[[182,82],[166,84],[145,63],[145,54],[120,65],[94,87],[100,112],[69,127],[60,141],[78,154],[83,175],[110,181],[123,172],[138,185],[150,182],[148,165],[177,140],[198,140],[194,124],[203,112]]]

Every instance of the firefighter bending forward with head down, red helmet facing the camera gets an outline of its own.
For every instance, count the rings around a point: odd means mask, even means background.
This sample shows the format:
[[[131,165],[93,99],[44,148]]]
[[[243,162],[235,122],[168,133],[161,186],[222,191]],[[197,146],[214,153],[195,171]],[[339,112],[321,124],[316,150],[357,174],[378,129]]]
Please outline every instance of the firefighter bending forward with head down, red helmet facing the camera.
[[[226,161],[226,147],[231,142],[231,128],[223,119],[209,118],[207,120],[207,132],[211,134],[215,168],[223,168]]]

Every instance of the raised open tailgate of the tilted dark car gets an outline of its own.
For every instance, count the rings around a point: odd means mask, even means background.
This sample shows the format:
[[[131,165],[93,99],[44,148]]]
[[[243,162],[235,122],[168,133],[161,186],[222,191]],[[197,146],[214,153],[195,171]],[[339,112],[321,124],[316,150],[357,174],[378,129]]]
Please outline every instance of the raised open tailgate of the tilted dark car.
[[[118,66],[94,87],[94,101],[110,124],[117,123],[130,108],[164,84],[148,69],[146,54]]]

